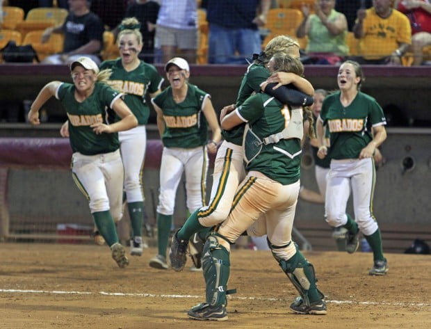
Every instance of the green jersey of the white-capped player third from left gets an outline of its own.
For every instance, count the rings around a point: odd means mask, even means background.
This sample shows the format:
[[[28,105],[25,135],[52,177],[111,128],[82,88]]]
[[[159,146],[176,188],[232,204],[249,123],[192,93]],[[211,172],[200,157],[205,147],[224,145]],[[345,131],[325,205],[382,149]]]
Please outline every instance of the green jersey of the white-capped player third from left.
[[[208,141],[208,123],[202,113],[202,104],[210,95],[187,84],[186,99],[179,104],[174,101],[170,86],[153,98],[154,104],[163,111],[165,131],[162,141],[165,147],[194,148],[206,145]]]

